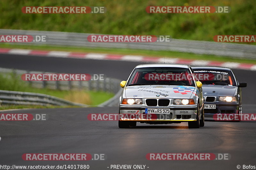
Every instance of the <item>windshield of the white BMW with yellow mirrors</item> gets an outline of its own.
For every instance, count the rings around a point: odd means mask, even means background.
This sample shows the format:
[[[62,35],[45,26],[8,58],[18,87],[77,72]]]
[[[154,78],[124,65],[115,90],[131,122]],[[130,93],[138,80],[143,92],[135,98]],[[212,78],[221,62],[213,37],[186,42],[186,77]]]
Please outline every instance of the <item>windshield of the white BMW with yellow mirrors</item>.
[[[127,86],[132,85],[186,85],[194,86],[194,77],[188,68],[148,67],[132,72]]]

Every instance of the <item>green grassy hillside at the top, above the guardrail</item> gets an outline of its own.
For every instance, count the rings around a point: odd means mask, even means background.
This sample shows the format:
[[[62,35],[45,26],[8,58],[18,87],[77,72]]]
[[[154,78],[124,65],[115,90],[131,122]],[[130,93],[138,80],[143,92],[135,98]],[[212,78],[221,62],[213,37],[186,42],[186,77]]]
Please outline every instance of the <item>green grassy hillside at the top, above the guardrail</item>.
[[[24,14],[23,6],[105,6],[104,14]],[[230,13],[156,13],[147,6],[230,6]],[[78,33],[171,35],[213,41],[214,35],[254,35],[255,0],[2,0],[0,28]],[[253,43],[256,44],[256,43]]]

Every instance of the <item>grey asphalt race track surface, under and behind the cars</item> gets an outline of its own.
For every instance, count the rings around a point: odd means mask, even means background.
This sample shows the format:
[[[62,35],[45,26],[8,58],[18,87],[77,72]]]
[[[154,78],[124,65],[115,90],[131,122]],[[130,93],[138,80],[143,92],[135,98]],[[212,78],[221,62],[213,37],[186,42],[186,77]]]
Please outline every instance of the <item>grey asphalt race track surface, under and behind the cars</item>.
[[[0,67],[34,71],[93,73],[126,80],[141,64],[127,61],[0,55]],[[255,73],[233,70],[243,88],[243,113],[255,113]],[[256,166],[254,121],[206,121],[200,129],[188,129],[187,123],[148,125],[119,129],[115,121],[89,121],[90,113],[118,113],[118,107],[58,108],[0,111],[0,113],[47,114],[46,121],[2,121],[0,123],[0,164],[70,165],[88,164],[90,169],[110,169],[111,164],[146,165],[162,169],[237,169]],[[107,160],[24,161],[24,153],[104,153]],[[147,160],[147,153],[229,153],[230,160]],[[109,168],[108,168],[109,167]],[[148,167],[148,168],[147,168]],[[242,169],[242,167],[240,168]]]

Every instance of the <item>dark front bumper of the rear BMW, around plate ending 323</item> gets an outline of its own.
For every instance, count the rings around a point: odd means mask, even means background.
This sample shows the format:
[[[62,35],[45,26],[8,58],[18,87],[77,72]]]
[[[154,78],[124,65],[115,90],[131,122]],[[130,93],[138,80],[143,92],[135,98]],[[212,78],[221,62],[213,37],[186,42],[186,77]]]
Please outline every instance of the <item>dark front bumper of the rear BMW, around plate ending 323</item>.
[[[214,114],[237,114],[239,110],[238,102],[204,102],[204,105],[216,105],[215,109],[204,109],[205,117],[213,117]]]

